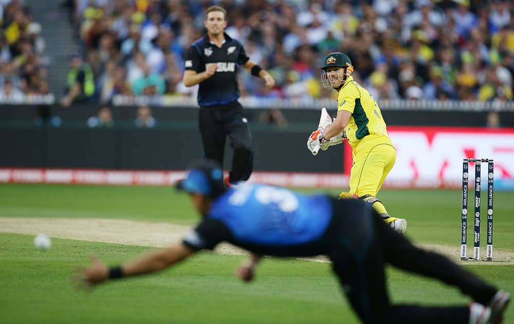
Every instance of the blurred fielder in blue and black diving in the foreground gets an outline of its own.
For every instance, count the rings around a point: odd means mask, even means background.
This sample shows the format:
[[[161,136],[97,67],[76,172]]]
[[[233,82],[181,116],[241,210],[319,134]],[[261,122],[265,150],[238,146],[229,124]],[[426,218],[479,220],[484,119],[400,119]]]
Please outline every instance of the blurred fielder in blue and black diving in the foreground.
[[[160,271],[225,241],[250,251],[250,257],[237,269],[237,276],[244,281],[253,279],[263,255],[328,256],[344,293],[364,323],[499,323],[510,300],[509,293],[495,289],[446,257],[412,245],[362,201],[303,195],[256,184],[226,189],[223,171],[212,160],[193,165],[177,188],[189,193],[202,215],[201,222],[181,243],[110,268],[91,257],[89,266],[76,268],[77,283],[94,286]],[[393,305],[386,287],[386,263],[457,286],[474,301],[451,307]]]

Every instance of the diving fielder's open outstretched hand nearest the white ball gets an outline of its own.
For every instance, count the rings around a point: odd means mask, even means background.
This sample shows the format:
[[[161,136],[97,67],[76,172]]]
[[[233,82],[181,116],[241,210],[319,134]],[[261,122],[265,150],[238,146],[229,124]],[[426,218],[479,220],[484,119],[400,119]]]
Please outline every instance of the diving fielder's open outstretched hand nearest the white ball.
[[[71,275],[71,281],[76,289],[90,290],[93,286],[109,278],[109,268],[95,256],[90,256],[91,265],[76,265]]]

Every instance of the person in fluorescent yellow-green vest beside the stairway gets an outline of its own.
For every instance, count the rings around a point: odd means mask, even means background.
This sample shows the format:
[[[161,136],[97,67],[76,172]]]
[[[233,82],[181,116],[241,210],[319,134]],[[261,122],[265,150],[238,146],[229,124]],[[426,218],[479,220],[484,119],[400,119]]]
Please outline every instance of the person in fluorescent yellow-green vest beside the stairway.
[[[95,93],[93,70],[82,60],[82,56],[79,53],[72,54],[69,65],[66,95],[61,100],[65,107],[74,102],[87,101]]]

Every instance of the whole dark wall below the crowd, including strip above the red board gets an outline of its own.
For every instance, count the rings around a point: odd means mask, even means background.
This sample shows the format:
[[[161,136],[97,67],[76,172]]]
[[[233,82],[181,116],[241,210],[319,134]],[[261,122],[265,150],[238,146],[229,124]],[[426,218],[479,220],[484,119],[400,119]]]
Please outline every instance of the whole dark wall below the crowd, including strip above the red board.
[[[154,107],[154,129],[134,127],[136,107],[113,107],[112,129],[86,127],[87,118],[96,115],[98,106],[47,109],[50,116],[61,118],[60,127],[36,125],[35,117],[41,107],[0,106],[0,166],[180,170],[202,156],[195,108]],[[342,146],[316,157],[306,148],[307,136],[319,120],[318,110],[284,109],[289,122],[284,129],[259,122],[263,111],[247,110],[255,170],[343,171]],[[383,115],[389,125],[483,127],[486,119],[485,112],[388,110]],[[514,112],[500,115],[503,126],[514,127]],[[227,150],[225,166],[231,163],[230,151]]]

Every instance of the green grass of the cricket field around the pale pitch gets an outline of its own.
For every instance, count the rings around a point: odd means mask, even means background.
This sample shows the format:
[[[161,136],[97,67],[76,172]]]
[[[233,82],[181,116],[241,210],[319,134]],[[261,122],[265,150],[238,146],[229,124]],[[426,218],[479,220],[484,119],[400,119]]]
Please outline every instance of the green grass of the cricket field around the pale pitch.
[[[408,219],[410,238],[454,245],[458,253],[458,190],[389,190],[379,198],[391,214]],[[512,192],[494,193],[494,246],[508,251],[514,251],[513,198]],[[197,221],[187,195],[165,187],[0,185],[2,216]],[[485,233],[486,222],[482,223]],[[0,323],[356,322],[326,263],[266,258],[256,281],[245,284],[233,275],[243,257],[202,253],[168,271],[109,283],[86,294],[71,288],[72,264],[86,263],[91,253],[116,264],[147,248],[53,239],[49,251],[39,252],[32,239],[0,233]],[[466,268],[514,292],[514,266],[470,264]],[[394,302],[469,302],[437,281],[395,269],[388,273]],[[514,323],[512,305],[506,322]]]

